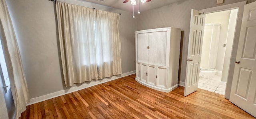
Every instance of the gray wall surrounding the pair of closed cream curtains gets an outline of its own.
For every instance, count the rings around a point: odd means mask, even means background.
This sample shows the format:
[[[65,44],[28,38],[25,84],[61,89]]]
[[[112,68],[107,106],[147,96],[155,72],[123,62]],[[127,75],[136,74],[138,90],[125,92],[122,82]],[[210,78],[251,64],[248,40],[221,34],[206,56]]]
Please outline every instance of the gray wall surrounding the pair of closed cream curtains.
[[[132,13],[78,0],[59,0],[98,10],[121,13],[122,73],[135,70],[135,21]],[[56,30],[54,2],[6,0],[28,82],[30,98],[60,90],[64,85]]]

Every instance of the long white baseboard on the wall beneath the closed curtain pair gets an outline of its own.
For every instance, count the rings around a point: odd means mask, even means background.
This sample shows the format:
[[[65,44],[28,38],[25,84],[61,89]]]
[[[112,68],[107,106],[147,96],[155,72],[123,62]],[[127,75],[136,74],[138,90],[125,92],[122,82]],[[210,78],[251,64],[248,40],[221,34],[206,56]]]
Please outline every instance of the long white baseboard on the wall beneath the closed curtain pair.
[[[63,96],[65,94],[69,94],[69,93],[72,93],[72,92],[76,92],[78,90],[82,90],[82,89],[85,89],[85,88],[89,88],[89,87],[92,87],[92,86],[96,86],[98,84],[103,84],[105,82],[109,82],[109,81],[112,81],[112,80],[116,80],[118,78],[122,78],[122,77],[125,77],[125,76],[129,76],[131,74],[135,74],[135,70],[134,71],[131,71],[131,72],[127,72],[127,73],[124,73],[124,74],[121,74],[121,75],[116,75],[116,76],[112,76],[112,77],[109,77],[109,78],[104,78],[102,80],[92,80],[90,82],[85,82],[84,84],[82,84],[81,86],[74,86],[74,87],[71,87],[69,89],[66,89],[66,90],[60,90],[60,91],[57,91],[57,92],[54,92],[54,93],[51,93],[51,94],[46,94],[44,96],[39,96],[39,97],[36,97],[36,98],[32,98],[30,99],[30,102],[27,104],[28,105],[32,105],[34,103],[38,103],[38,102],[41,102],[41,101],[45,101],[47,99],[52,99],[52,98],[56,98],[58,96]]]

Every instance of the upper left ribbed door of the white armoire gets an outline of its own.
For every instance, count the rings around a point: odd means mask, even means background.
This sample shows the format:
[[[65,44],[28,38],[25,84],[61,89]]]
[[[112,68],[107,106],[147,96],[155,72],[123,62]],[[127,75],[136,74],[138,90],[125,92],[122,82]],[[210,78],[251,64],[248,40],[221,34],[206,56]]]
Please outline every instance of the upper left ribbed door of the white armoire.
[[[148,33],[137,35],[137,53],[139,62],[148,63]]]

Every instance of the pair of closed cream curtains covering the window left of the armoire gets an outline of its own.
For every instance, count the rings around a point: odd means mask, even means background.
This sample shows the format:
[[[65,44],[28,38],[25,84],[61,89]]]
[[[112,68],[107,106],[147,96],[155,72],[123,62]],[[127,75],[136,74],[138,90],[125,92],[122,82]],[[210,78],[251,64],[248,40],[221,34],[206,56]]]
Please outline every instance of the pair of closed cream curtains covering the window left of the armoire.
[[[105,29],[98,31],[100,23],[94,18],[96,11],[92,8],[56,2],[56,12],[66,86],[121,74],[118,26],[108,26],[118,25],[119,16],[108,17],[117,23],[106,20],[111,24],[104,24]]]

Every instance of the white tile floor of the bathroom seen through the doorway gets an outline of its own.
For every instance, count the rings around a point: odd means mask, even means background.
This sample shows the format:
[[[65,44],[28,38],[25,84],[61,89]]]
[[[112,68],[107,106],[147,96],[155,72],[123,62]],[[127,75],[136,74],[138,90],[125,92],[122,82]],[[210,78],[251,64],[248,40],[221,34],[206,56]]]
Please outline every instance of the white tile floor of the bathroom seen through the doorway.
[[[221,74],[219,73],[215,75],[204,73],[199,77],[198,88],[224,95],[226,83],[221,82]]]

